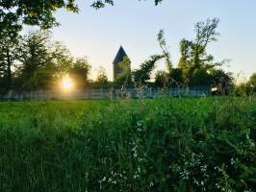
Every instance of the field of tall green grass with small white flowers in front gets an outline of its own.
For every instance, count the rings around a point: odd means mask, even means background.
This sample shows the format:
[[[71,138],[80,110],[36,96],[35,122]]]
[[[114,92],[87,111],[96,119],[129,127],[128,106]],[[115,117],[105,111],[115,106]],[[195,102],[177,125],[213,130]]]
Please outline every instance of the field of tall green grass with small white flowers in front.
[[[255,191],[256,98],[0,103],[0,191]]]

